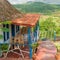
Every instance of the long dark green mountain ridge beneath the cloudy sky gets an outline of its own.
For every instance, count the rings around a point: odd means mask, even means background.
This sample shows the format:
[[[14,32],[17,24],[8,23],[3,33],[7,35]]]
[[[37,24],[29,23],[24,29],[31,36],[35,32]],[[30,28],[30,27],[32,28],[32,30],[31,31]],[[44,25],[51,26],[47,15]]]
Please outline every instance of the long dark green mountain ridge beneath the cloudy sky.
[[[26,4],[14,5],[19,11],[24,13],[42,13],[52,14],[60,11],[60,5],[58,4],[46,4],[42,2],[27,2]]]

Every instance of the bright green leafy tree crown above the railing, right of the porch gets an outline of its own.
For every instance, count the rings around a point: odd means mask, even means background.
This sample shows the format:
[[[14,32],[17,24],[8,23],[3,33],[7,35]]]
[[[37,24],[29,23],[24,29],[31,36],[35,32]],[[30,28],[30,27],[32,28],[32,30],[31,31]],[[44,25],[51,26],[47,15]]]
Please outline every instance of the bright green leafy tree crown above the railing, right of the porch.
[[[49,17],[45,21],[41,21],[40,30],[41,31],[54,31],[56,28],[56,25],[52,20],[53,18]]]

